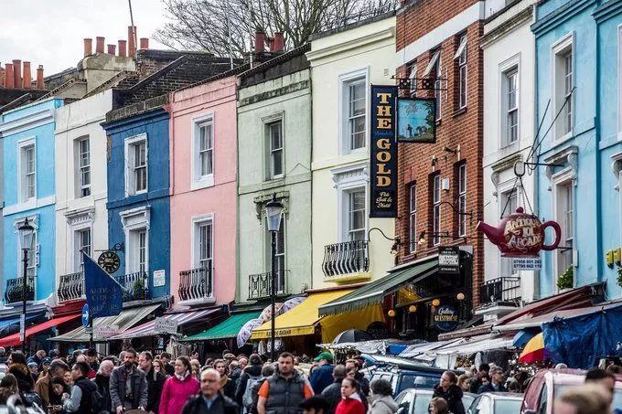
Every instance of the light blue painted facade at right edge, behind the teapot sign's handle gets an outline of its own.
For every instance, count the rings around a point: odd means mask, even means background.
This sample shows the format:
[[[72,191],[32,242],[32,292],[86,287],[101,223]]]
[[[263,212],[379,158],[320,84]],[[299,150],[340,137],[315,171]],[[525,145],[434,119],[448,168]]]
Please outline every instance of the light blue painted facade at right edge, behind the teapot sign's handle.
[[[536,7],[534,132],[537,214],[562,228],[560,249],[542,252],[535,297],[565,287],[606,282],[607,298],[620,295],[617,270],[605,252],[621,244],[619,1],[548,0]],[[622,156],[620,157],[622,160]],[[617,174],[617,173],[616,173]],[[548,235],[551,239],[552,235]]]

